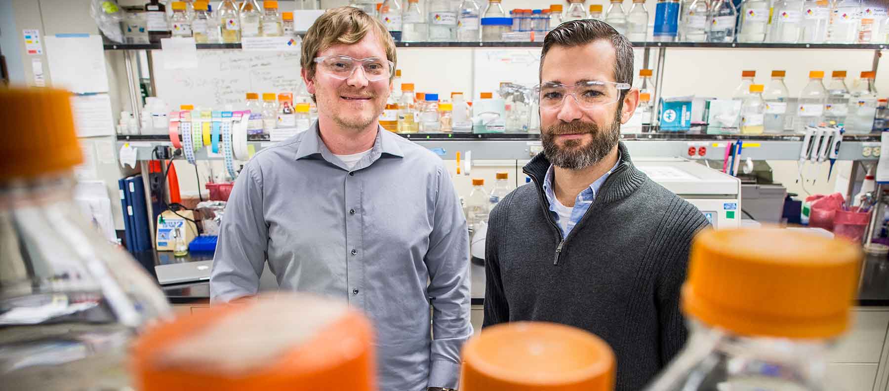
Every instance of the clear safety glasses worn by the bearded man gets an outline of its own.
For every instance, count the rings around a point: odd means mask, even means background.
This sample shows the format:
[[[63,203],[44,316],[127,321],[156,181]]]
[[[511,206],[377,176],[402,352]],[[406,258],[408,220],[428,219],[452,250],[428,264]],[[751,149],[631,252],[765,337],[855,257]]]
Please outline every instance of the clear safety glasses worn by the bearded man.
[[[561,108],[568,95],[571,95],[581,108],[591,109],[620,100],[621,91],[629,88],[629,84],[626,83],[598,80],[588,80],[574,85],[544,83],[534,87],[533,96],[542,109]]]

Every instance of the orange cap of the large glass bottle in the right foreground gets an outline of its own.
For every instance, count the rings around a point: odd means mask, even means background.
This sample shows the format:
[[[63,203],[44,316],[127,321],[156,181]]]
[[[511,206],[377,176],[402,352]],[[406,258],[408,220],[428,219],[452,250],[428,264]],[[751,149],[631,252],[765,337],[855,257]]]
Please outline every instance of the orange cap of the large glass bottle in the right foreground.
[[[779,228],[706,230],[689,259],[682,307],[703,323],[792,339],[849,328],[859,245]]]

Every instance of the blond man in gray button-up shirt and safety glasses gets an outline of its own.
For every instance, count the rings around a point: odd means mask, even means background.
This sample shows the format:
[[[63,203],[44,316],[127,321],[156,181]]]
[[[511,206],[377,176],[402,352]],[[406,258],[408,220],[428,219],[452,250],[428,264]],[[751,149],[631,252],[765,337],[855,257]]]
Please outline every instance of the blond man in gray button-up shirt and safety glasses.
[[[457,387],[472,334],[466,219],[442,160],[380,127],[395,43],[380,21],[335,8],[308,29],[301,63],[318,120],[238,176],[212,300],[255,294],[268,260],[282,290],[348,300],[371,318],[381,390]]]

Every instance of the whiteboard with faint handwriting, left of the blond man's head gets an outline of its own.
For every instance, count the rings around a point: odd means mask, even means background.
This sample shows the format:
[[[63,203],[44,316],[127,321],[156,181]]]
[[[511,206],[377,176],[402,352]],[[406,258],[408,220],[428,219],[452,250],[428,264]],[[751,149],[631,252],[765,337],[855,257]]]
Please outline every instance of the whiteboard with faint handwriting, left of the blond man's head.
[[[163,69],[164,51],[152,52],[152,60]],[[155,72],[156,96],[171,108],[237,109],[247,92],[295,93],[301,83],[300,52],[199,51],[197,68]]]

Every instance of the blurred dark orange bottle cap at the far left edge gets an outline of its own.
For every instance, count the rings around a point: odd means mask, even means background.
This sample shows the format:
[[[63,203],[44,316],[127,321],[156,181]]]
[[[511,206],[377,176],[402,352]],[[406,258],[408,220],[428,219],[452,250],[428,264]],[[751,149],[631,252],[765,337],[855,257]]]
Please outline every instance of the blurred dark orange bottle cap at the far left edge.
[[[71,114],[72,94],[50,88],[0,89],[0,180],[70,170],[84,160]]]

